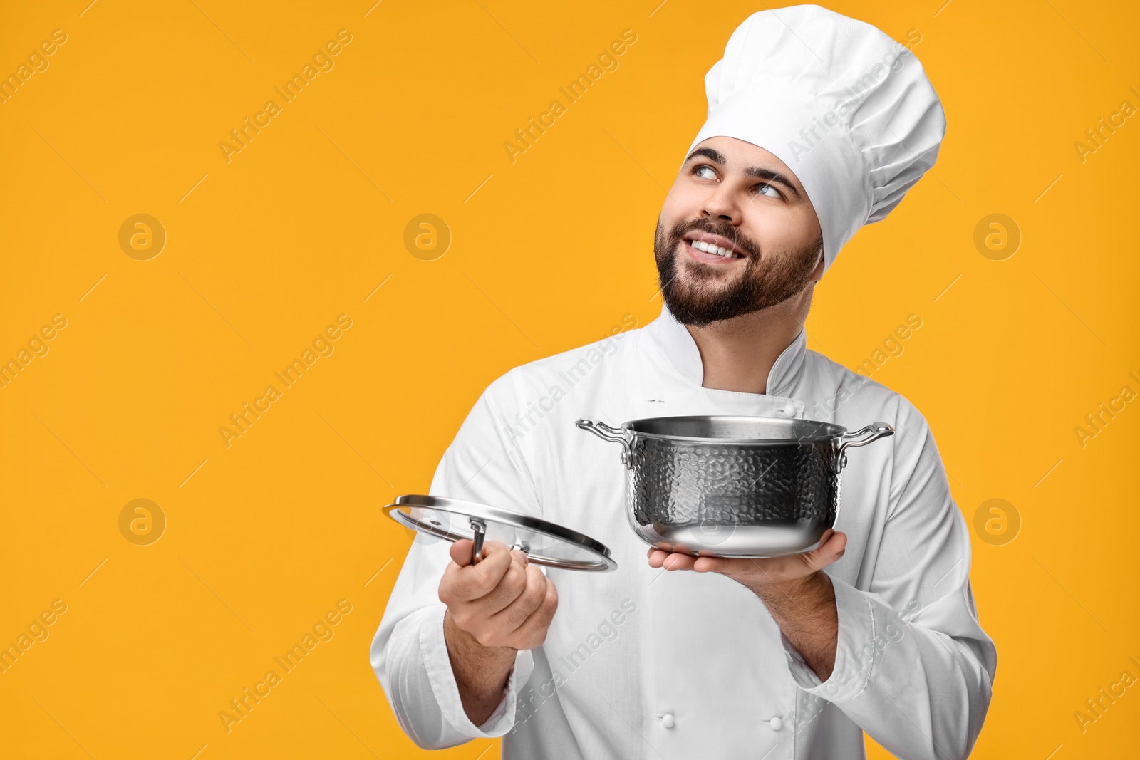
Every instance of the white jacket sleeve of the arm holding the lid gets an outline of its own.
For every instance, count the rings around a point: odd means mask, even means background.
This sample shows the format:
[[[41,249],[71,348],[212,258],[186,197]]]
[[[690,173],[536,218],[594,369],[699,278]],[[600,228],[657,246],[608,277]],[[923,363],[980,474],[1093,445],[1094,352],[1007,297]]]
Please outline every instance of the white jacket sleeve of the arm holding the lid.
[[[529,443],[526,428],[516,420],[512,425],[496,406],[498,401],[513,414],[515,398],[511,373],[488,386],[445,451],[432,479],[432,496],[538,515],[522,453]],[[438,517],[447,520],[442,513]],[[439,600],[439,582],[451,561],[450,546],[443,539],[416,534],[369,653],[400,727],[418,746],[430,750],[506,734],[514,724],[518,693],[534,668],[531,653],[520,651],[503,702],[482,726],[471,722],[443,640],[446,606]]]

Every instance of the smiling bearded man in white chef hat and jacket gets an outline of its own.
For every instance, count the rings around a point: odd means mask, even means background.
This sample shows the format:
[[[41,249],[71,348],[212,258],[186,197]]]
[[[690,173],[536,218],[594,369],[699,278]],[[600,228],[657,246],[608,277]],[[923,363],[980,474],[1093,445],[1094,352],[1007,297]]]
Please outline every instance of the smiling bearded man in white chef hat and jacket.
[[[591,536],[618,570],[539,569],[495,542],[472,565],[470,541],[420,537],[372,665],[425,749],[502,736],[520,759],[847,760],[866,732],[898,758],[966,758],[996,652],[930,426],[808,351],[804,328],[842,245],[934,164],[942,106],[912,52],[819,6],[747,18],[705,83],[654,240],[660,317],[502,375],[431,483]],[[896,433],[850,450],[811,550],[695,558],[635,537],[616,450],[575,425],[674,415]]]

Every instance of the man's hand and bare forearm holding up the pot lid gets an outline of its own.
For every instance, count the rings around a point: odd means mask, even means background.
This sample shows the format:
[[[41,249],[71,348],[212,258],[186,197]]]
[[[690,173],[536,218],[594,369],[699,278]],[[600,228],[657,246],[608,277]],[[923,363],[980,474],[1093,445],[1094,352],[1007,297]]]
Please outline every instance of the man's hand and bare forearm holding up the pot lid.
[[[475,726],[482,726],[503,701],[514,656],[546,640],[559,606],[554,583],[522,551],[488,541],[483,559],[471,564],[469,540],[456,541],[453,562],[439,583],[443,640],[459,701]]]

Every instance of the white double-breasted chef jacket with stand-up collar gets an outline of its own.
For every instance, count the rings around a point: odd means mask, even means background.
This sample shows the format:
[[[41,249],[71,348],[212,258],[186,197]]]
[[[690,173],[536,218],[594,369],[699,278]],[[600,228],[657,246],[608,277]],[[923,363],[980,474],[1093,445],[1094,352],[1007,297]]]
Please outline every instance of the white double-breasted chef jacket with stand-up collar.
[[[697,344],[668,308],[640,329],[516,367],[482,393],[431,493],[539,516],[605,544],[613,572],[546,569],[559,608],[520,651],[503,702],[466,717],[438,589],[450,544],[417,539],[370,660],[404,730],[442,749],[503,736],[503,757],[865,758],[865,730],[906,760],[969,755],[996,667],[970,589],[970,539],[927,420],[898,393],[808,351],[784,349],[767,393],[702,387]],[[887,422],[848,450],[824,569],[839,637],[826,681],[751,590],[716,573],[653,570],[626,516],[621,447],[575,425],[674,415]]]

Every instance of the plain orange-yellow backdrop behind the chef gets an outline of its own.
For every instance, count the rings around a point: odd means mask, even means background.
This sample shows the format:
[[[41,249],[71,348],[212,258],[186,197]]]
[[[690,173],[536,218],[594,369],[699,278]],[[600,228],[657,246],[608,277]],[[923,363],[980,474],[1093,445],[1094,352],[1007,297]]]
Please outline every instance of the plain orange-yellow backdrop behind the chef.
[[[3,753],[420,757],[367,661],[409,545],[380,507],[425,491],[495,377],[657,317],[652,232],[703,74],[765,6],[87,2],[10,6],[0,24],[0,73],[66,34],[0,105],[0,359],[66,319],[0,389],[0,644],[66,605],[0,673]],[[1083,162],[1074,142],[1140,106],[1140,11],[829,7],[918,32],[948,131],[829,270],[808,348],[855,368],[918,314],[873,377],[930,420],[971,525],[1011,505],[974,537],[999,652],[974,757],[1124,757],[1140,687],[1083,733],[1074,713],[1140,677],[1140,402],[1083,446],[1074,428],[1140,391],[1140,124]],[[618,68],[512,163],[504,142],[627,28]],[[334,67],[227,162],[219,142],[339,30]],[[146,261],[120,245],[139,213],[166,235]],[[430,261],[405,245],[423,213],[451,236]],[[993,213],[1020,230],[1001,261],[1008,247],[974,242]],[[219,427],[339,314],[334,352],[227,448]],[[135,499],[165,516],[157,541],[121,530]],[[340,599],[334,637],[227,733],[229,700]]]

